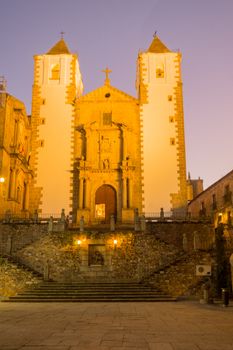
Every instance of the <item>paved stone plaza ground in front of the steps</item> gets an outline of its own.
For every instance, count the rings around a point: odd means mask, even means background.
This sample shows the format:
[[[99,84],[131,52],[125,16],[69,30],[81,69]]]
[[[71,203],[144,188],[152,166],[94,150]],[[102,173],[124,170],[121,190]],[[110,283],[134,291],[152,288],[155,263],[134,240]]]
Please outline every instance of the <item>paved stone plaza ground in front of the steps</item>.
[[[233,305],[0,303],[0,350],[233,350]]]

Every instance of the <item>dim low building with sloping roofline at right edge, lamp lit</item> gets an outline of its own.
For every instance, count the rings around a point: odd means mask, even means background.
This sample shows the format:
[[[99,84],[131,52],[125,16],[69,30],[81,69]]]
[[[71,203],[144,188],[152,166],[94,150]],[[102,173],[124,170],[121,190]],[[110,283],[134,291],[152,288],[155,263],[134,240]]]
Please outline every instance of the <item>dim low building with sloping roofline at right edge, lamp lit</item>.
[[[190,201],[188,212],[191,217],[211,217],[218,224],[232,224],[233,217],[233,170],[201,192]]]

